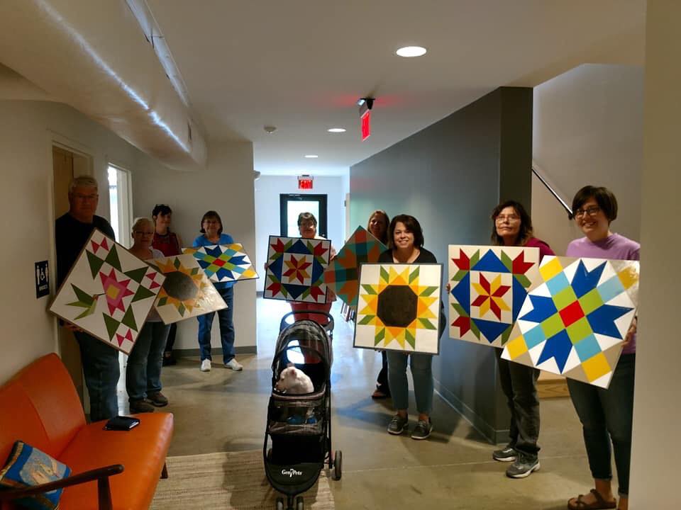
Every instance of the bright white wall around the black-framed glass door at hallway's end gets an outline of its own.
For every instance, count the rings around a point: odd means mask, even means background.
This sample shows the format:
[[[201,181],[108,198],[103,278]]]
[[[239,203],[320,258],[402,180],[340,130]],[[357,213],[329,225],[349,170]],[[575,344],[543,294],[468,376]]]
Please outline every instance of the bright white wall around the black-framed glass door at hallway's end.
[[[347,177],[319,176],[314,178],[314,189],[303,191],[298,189],[296,176],[260,176],[255,181],[255,240],[258,268],[267,260],[267,242],[270,235],[280,234],[279,194],[280,193],[313,193],[327,195],[326,215],[328,239],[333,247],[341,249],[345,244],[345,193],[350,191]],[[319,219],[319,218],[318,218]],[[354,228],[350,229],[351,231]],[[262,291],[262,281],[258,285]]]

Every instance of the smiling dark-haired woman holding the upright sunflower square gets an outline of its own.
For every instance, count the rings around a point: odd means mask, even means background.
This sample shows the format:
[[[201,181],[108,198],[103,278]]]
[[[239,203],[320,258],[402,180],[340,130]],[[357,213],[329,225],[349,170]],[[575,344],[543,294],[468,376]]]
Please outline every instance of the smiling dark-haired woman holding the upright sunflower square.
[[[437,263],[430,251],[423,248],[423,231],[415,217],[397,215],[388,227],[388,246],[379,257],[384,263]],[[441,304],[442,307],[442,304]],[[438,332],[444,331],[444,316],[441,311]],[[392,402],[397,409],[388,425],[388,432],[399,435],[409,426],[409,385],[406,380],[406,364],[411,357],[411,376],[414,378],[416,411],[419,420],[411,432],[412,439],[426,439],[433,431],[431,410],[433,409],[433,356],[425,353],[387,351],[388,382]]]

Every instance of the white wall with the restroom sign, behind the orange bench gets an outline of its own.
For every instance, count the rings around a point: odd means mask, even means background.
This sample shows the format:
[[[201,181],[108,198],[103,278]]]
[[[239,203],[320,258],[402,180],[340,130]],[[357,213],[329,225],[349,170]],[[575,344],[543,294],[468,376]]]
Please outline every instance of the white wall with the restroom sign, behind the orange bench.
[[[0,272],[6,289],[0,306],[0,383],[38,356],[57,351],[56,320],[46,309],[50,297],[35,298],[33,263],[53,259],[52,142],[92,156],[100,183],[97,214],[109,217],[106,167],[109,161],[133,169],[148,160],[106,128],[60,103],[0,101],[3,218]]]

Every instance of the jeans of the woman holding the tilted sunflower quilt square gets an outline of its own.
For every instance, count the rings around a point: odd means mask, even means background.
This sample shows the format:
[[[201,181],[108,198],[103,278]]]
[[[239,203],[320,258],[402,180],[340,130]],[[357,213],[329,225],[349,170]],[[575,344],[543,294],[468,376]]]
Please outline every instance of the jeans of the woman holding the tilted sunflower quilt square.
[[[160,392],[163,350],[170,326],[162,322],[147,322],[137,336],[128,356],[126,390],[128,399],[141,400],[147,393]]]

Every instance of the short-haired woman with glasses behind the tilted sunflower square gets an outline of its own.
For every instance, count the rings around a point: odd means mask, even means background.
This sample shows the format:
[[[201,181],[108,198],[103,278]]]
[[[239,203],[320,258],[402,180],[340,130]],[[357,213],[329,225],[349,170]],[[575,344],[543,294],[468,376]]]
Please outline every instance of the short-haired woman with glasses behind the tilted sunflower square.
[[[162,257],[160,251],[152,248],[153,239],[154,222],[149,218],[135,220],[131,254],[142,260]],[[152,310],[128,355],[126,390],[131,413],[153,412],[154,407],[168,404],[161,393],[161,366],[169,329],[170,326],[161,322],[158,312]]]

